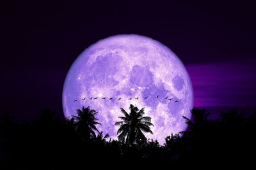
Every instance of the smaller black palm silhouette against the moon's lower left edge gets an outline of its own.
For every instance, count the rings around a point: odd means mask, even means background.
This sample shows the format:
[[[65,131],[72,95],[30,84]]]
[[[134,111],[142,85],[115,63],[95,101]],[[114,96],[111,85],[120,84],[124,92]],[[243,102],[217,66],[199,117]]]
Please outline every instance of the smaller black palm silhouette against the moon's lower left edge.
[[[73,116],[76,121],[76,131],[85,140],[92,138],[92,136],[96,136],[94,131],[100,133],[96,127],[96,125],[101,125],[99,122],[96,122],[96,120],[98,120],[95,118],[97,113],[98,112],[95,110],[90,110],[89,106],[87,108],[84,108],[83,106],[82,110],[77,109],[77,116]]]

